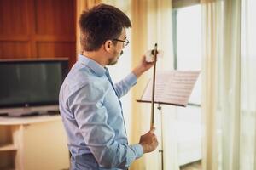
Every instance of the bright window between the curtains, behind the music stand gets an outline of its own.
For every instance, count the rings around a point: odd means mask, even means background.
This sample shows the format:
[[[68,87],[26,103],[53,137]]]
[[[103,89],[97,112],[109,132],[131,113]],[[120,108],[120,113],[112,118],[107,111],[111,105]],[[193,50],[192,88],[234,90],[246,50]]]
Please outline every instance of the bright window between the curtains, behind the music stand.
[[[201,71],[201,6],[173,10],[174,68]],[[201,77],[186,108],[177,108],[178,161],[180,165],[201,160]]]

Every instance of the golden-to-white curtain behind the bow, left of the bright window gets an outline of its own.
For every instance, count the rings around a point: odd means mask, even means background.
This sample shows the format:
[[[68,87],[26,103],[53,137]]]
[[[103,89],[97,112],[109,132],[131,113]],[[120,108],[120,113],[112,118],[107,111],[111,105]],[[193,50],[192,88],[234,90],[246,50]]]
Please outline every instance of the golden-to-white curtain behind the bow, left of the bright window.
[[[164,51],[164,57],[158,59],[157,70],[173,69],[173,51],[172,51],[172,1],[169,0],[143,0],[131,1],[131,20],[132,20],[132,63],[137,65],[141,56],[148,49],[154,48],[154,43],[158,43],[158,49]],[[140,135],[148,132],[150,127],[150,104],[137,103],[140,99],[143,89],[146,87],[148,79],[152,77],[152,70],[143,75],[135,88],[132,90],[132,135],[131,141],[135,143],[139,140]],[[154,108],[154,126],[156,135],[159,140],[159,148],[153,153],[144,155],[143,158],[136,161],[132,169],[161,169],[161,156],[158,150],[161,145],[161,116],[163,119],[163,150],[164,150],[164,168],[178,169],[177,163],[177,146],[173,135],[173,107],[162,107],[162,111]],[[172,136],[172,137],[171,137]],[[173,139],[173,140],[172,140]]]

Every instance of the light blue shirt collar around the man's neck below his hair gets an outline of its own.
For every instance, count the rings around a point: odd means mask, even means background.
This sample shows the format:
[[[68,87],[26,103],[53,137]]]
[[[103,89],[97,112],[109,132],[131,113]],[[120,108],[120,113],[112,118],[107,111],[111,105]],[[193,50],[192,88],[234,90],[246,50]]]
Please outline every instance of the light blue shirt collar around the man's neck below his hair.
[[[86,65],[90,68],[90,70],[96,73],[96,76],[102,77],[106,72],[106,67],[98,64],[96,61],[89,59],[88,57],[84,56],[83,54],[79,54],[79,63],[82,65]]]

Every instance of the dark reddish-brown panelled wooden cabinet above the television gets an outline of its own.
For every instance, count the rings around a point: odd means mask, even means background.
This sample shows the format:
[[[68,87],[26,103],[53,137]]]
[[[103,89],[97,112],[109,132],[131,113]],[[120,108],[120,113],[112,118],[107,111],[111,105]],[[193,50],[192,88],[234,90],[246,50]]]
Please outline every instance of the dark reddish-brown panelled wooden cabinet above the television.
[[[76,1],[1,0],[0,59],[76,60]]]

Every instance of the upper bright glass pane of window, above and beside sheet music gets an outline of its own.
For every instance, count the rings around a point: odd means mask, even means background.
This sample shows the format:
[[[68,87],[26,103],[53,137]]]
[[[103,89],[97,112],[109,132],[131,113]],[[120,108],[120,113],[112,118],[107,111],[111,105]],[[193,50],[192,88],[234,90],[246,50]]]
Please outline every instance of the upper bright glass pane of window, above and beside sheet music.
[[[201,6],[177,10],[177,70],[201,71]],[[189,99],[201,104],[201,77]]]

